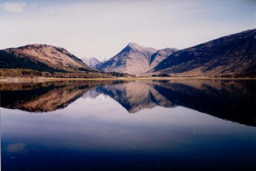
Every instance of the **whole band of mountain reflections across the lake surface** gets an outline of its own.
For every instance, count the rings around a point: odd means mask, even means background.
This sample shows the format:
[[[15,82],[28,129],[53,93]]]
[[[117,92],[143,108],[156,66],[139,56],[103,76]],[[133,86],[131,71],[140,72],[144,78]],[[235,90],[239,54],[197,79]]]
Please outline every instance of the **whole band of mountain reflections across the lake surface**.
[[[184,106],[256,126],[256,81],[57,81],[0,84],[1,107],[30,112],[63,109],[82,95],[105,94],[130,113],[155,106]]]

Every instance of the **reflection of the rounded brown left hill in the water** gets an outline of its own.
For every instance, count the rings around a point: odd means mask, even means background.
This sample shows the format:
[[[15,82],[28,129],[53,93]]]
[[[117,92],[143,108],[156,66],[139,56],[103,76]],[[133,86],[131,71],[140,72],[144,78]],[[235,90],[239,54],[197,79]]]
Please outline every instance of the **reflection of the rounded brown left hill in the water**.
[[[63,109],[92,87],[101,84],[100,81],[0,84],[1,107],[30,112],[48,112]]]

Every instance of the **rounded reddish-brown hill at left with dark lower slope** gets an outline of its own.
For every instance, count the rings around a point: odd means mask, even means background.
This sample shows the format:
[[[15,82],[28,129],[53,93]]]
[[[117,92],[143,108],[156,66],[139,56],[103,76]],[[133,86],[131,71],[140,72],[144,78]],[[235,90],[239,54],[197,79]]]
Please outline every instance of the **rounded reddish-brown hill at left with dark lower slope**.
[[[95,72],[66,49],[30,44],[0,51],[0,68],[24,68],[48,72]]]

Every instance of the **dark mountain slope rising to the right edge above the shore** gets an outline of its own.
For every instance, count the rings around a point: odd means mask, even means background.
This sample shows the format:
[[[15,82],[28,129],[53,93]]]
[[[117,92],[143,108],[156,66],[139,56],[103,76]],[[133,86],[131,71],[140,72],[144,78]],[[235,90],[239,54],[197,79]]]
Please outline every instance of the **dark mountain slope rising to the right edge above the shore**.
[[[150,72],[192,77],[256,77],[256,29],[172,53]]]

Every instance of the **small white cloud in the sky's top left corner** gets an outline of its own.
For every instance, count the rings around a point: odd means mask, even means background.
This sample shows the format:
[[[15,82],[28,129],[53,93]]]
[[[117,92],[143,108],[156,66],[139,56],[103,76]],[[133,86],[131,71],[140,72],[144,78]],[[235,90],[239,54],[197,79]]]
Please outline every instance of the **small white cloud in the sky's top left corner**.
[[[25,2],[4,2],[0,3],[0,9],[7,12],[21,13],[26,5]]]

